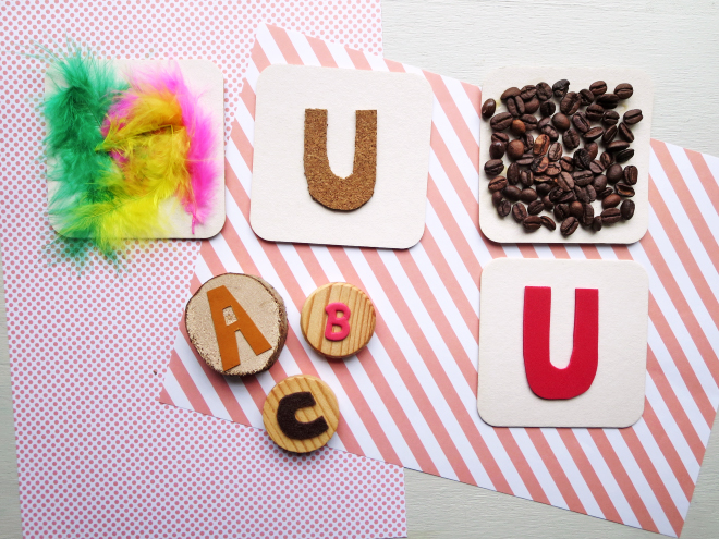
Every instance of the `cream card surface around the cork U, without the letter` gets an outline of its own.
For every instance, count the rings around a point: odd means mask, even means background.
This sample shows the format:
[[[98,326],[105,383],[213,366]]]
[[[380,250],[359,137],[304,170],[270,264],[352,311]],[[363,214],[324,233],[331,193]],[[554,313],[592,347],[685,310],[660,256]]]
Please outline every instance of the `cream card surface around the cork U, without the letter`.
[[[270,65],[257,82],[249,222],[273,242],[409,248],[424,233],[432,91],[412,73]],[[373,197],[352,211],[315,201],[304,173],[305,109],[328,111],[332,172],[352,173],[355,111],[377,110]]]

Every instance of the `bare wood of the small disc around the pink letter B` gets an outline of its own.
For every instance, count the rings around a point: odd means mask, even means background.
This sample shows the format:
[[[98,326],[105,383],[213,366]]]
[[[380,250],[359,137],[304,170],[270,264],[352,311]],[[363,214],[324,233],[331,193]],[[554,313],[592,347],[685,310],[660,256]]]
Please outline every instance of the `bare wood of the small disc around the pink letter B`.
[[[326,338],[326,307],[341,303],[350,309],[350,332],[342,340]],[[313,292],[302,307],[300,326],[309,345],[325,357],[342,359],[364,348],[375,333],[375,306],[362,290],[348,283],[329,283]],[[339,328],[334,328],[338,333]]]

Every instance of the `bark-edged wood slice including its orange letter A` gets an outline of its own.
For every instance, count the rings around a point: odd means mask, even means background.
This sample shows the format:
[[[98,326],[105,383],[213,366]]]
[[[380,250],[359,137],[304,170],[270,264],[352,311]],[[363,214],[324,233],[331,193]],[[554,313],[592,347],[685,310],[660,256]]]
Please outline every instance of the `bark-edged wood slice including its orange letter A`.
[[[187,302],[185,326],[207,365],[235,376],[269,369],[288,334],[282,297],[259,277],[241,273],[203,284]]]

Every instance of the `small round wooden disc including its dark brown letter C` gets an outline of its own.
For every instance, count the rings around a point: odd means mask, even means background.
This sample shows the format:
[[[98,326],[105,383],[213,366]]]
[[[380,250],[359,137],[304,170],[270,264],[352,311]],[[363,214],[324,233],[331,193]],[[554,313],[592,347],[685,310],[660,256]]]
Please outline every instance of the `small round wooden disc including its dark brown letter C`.
[[[340,408],[332,389],[319,378],[291,376],[267,395],[263,421],[280,448],[308,453],[332,438],[340,422]]]

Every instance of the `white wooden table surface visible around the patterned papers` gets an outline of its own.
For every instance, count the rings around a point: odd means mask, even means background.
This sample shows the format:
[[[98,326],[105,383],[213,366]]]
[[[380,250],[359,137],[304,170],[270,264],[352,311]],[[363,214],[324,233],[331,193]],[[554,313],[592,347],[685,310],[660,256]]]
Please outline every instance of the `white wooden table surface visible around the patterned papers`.
[[[655,83],[653,137],[719,156],[717,1],[383,0],[382,17],[387,58],[478,85],[485,73],[502,65],[642,68]],[[406,500],[412,539],[658,537],[411,470]],[[20,537],[0,293],[0,538]],[[719,537],[719,437],[715,433],[681,537]]]

